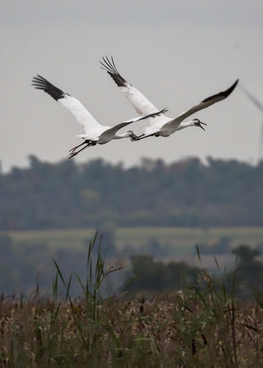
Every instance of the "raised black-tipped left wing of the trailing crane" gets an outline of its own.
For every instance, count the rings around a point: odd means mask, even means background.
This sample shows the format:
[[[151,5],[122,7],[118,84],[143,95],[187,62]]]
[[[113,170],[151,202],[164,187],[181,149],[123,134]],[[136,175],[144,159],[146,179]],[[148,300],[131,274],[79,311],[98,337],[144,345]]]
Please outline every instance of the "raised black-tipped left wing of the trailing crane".
[[[98,121],[91,115],[91,113],[88,112],[79,100],[55,87],[45,78],[41,77],[41,75],[37,75],[32,79],[32,86],[36,89],[43,89],[43,91],[47,92],[57,102],[60,102],[63,106],[67,107],[78,123],[82,125],[86,133],[101,126],[101,124],[98,123]]]

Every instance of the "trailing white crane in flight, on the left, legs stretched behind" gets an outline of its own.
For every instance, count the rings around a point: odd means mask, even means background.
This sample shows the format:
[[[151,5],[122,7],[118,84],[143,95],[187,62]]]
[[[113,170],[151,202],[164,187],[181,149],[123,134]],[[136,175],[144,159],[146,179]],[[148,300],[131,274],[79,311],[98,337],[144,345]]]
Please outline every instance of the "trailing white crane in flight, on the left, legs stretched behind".
[[[155,110],[147,114],[146,116],[137,117],[134,119],[123,121],[122,123],[116,124],[113,127],[105,127],[98,123],[97,120],[91,115],[90,112],[80,103],[79,100],[70,96],[68,93],[62,91],[61,89],[55,87],[45,78],[41,77],[41,75],[37,75],[32,79],[32,86],[36,89],[43,89],[43,91],[47,92],[51,97],[53,97],[57,102],[60,102],[63,106],[67,107],[71,114],[76,118],[78,123],[82,125],[84,128],[85,134],[78,134],[76,137],[80,137],[85,139],[83,143],[72,148],[69,152],[70,157],[76,156],[79,152],[83,151],[85,148],[94,146],[98,144],[105,144],[111,141],[112,139],[121,139],[121,138],[132,138],[136,137],[135,134],[131,130],[127,131],[124,134],[118,134],[117,131],[128,124],[134,123],[135,121],[144,120],[148,117],[154,117],[164,111],[168,111],[163,109],[159,112]],[[86,144],[84,148],[81,148],[79,151],[75,152],[75,150]]]

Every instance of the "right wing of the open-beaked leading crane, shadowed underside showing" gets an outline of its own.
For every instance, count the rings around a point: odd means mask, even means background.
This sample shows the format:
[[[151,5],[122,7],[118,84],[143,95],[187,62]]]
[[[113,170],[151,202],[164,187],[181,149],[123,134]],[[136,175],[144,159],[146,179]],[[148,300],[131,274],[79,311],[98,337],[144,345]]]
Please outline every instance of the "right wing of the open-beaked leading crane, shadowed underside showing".
[[[211,106],[216,102],[224,100],[225,98],[227,98],[227,96],[230,95],[230,93],[232,91],[234,91],[235,86],[238,84],[238,81],[239,81],[239,79],[236,79],[235,83],[231,87],[226,89],[225,91],[219,92],[216,95],[213,95],[213,96],[210,96],[210,97],[204,99],[203,101],[201,101],[197,105],[191,107],[189,110],[183,112],[182,114],[178,115],[175,119],[172,119],[171,121],[169,121],[165,125],[172,125],[172,126],[177,127],[188,116],[196,113],[197,111],[206,109],[208,106]]]

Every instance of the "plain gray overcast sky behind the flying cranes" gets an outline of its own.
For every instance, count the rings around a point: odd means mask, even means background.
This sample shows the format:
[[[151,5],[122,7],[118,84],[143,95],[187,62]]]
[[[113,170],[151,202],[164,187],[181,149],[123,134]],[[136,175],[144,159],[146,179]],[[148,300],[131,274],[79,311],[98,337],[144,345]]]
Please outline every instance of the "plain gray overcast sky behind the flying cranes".
[[[175,117],[228,88],[236,78],[263,103],[262,0],[2,0],[0,4],[0,159],[3,170],[27,166],[29,154],[58,162],[80,144],[81,126],[67,109],[31,86],[41,74],[78,98],[102,125],[137,113],[99,60],[113,55],[120,74]],[[262,116],[236,89],[168,138],[111,141],[78,162],[102,157],[125,165],[143,156],[186,156],[255,163]],[[187,121],[187,120],[186,120]],[[121,130],[140,134],[144,121]]]

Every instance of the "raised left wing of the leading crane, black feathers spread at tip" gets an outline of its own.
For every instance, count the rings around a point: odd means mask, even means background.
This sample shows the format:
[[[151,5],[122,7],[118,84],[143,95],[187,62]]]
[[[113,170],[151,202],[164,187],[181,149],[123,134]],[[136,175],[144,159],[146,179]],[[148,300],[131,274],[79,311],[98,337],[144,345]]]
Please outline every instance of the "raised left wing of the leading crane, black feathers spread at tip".
[[[140,91],[138,91],[138,89],[134,88],[119,74],[112,57],[112,62],[109,61],[107,56],[106,60],[104,59],[104,57],[102,59],[104,60],[105,64],[100,61],[100,63],[104,66],[104,68],[101,68],[103,70],[106,70],[106,72],[112,77],[120,90],[125,93],[127,100],[131,103],[138,114],[147,115],[152,114],[158,110],[157,107],[152,105],[152,103],[147,100],[147,98]]]

